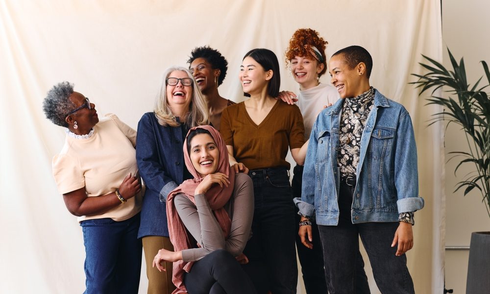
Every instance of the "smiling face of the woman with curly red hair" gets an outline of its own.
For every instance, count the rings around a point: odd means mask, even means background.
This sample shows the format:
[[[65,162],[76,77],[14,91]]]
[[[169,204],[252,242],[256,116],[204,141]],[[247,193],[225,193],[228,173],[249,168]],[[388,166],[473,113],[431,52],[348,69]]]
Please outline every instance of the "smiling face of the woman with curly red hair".
[[[318,86],[318,75],[323,70],[323,64],[310,57],[294,56],[290,60],[291,73],[301,90]]]

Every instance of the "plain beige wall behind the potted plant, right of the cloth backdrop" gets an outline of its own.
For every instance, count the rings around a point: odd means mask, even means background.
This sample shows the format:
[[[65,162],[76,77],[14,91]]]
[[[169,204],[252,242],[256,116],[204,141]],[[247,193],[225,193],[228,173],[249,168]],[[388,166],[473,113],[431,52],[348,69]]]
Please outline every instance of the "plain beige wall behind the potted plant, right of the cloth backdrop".
[[[451,50],[458,61],[464,57],[468,82],[471,84],[485,74],[480,61],[490,62],[489,12],[490,1],[442,1],[443,45]],[[447,52],[444,53],[443,64],[446,68],[451,66]],[[486,78],[483,82],[488,83]],[[446,158],[450,158],[448,152],[466,150],[466,139],[456,125],[447,129],[445,147]],[[454,168],[457,164],[458,159],[445,165],[446,246],[469,246],[471,232],[490,230],[490,218],[482,204],[482,197],[476,191],[466,197],[463,196],[463,190],[453,193],[455,183],[472,171],[468,164],[460,168],[455,176]],[[467,249],[447,249],[445,252],[446,289],[453,289],[454,293],[466,291],[468,253]]]

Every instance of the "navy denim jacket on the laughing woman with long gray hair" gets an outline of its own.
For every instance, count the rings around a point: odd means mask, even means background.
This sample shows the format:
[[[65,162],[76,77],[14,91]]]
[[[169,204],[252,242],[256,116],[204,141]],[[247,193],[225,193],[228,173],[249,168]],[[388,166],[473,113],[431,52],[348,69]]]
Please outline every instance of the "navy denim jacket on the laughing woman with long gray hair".
[[[183,127],[186,126],[162,126],[153,112],[145,113],[138,123],[136,160],[147,187],[138,238],[169,236],[165,199],[187,179],[183,178],[186,169],[182,150]]]

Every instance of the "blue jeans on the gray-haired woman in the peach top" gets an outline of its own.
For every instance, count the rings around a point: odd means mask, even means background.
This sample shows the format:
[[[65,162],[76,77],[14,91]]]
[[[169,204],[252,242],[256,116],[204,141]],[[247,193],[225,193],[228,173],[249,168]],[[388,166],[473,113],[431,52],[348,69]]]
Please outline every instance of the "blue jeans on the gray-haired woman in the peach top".
[[[86,294],[137,294],[141,271],[140,214],[125,220],[80,222],[85,245]]]

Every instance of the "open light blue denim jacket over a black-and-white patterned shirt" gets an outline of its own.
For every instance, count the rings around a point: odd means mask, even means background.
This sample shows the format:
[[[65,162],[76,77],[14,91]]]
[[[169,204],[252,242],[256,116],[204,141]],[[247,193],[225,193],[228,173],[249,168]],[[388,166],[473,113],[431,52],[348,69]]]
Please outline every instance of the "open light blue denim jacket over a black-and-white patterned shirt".
[[[299,211],[320,225],[339,222],[337,166],[344,99],[324,109],[310,135]],[[399,213],[424,206],[418,196],[417,147],[407,110],[375,89],[374,105],[361,138],[352,223],[398,221]]]

